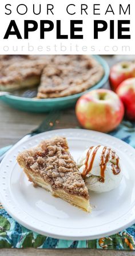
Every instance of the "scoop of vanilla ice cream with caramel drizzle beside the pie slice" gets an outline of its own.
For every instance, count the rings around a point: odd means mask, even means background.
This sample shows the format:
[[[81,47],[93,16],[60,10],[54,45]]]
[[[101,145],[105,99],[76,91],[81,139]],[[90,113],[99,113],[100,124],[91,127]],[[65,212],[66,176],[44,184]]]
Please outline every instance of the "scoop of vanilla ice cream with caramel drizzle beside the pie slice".
[[[120,159],[114,150],[106,146],[85,150],[77,165],[90,191],[110,191],[117,188],[122,179]]]

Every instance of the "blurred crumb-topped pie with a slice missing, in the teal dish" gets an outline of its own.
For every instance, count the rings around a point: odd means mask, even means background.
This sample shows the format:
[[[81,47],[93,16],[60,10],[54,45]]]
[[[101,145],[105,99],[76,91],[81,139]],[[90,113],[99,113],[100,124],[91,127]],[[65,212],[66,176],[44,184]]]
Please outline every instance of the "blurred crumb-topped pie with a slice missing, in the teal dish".
[[[0,90],[38,87],[37,98],[78,94],[97,84],[104,68],[87,55],[1,55]]]

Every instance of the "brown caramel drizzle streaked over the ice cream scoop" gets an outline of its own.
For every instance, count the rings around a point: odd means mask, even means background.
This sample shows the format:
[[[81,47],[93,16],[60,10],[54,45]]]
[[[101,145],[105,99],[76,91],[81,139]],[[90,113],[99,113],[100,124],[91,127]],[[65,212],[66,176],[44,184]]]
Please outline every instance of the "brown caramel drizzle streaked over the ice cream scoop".
[[[96,153],[97,153],[98,149],[100,148],[100,145],[96,146],[96,148],[93,150],[92,159],[88,166],[90,153],[92,152],[93,148],[94,148],[94,146],[90,147],[86,154],[85,169],[82,172],[83,177],[85,177],[89,172],[91,172],[92,167],[93,167],[94,158],[96,157]],[[104,146],[104,148],[102,150],[101,162],[100,162],[100,176],[101,176],[100,182],[102,182],[102,183],[105,182],[105,170],[106,170],[106,166],[109,162],[110,153],[112,154],[112,160],[116,158],[116,164],[113,164],[113,162],[112,162],[113,174],[117,175],[121,171],[120,166],[119,166],[119,157],[116,156],[116,154],[110,148],[107,148],[106,146]]]

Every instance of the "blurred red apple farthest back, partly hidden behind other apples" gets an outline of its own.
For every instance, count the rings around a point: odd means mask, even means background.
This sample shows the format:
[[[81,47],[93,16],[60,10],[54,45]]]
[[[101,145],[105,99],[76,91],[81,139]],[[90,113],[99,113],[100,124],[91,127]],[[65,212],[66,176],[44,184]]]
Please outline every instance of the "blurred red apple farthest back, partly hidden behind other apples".
[[[110,68],[110,87],[116,91],[117,87],[130,77],[135,77],[135,64],[131,61],[117,63]]]

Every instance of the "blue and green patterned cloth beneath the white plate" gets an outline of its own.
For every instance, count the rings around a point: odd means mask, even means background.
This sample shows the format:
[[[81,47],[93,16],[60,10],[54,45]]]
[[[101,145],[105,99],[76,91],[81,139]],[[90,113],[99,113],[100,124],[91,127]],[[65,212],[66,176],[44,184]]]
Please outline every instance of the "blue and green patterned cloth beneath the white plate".
[[[135,148],[135,124],[122,122],[111,135]],[[65,241],[39,235],[21,226],[0,205],[0,248],[92,248],[135,250],[135,224],[118,234],[92,241]]]

